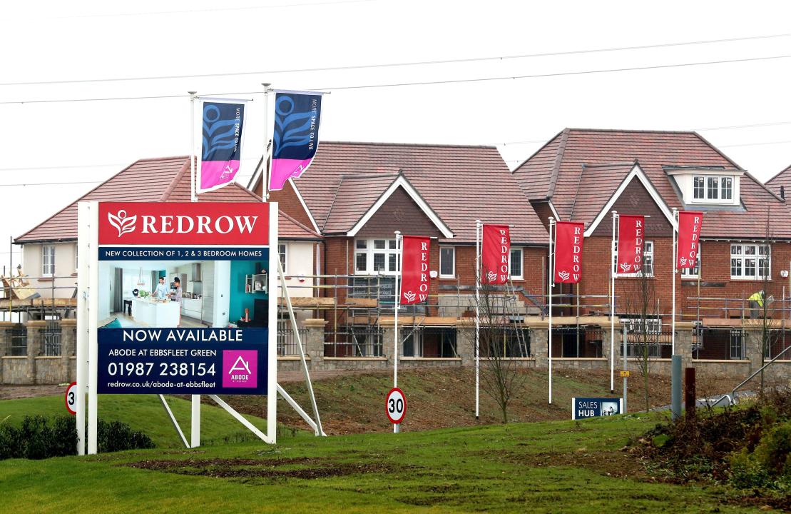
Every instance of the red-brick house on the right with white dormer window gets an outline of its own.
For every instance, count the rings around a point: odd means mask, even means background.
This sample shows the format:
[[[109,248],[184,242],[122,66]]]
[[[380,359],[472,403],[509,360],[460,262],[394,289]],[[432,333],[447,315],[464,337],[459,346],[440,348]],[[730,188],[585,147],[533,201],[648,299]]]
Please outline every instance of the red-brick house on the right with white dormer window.
[[[585,223],[579,288],[555,288],[579,301],[583,314],[610,310],[611,211],[649,216],[645,272],[658,325],[667,326],[672,312],[673,209],[705,212],[699,265],[675,277],[680,320],[711,325],[706,320],[742,318],[746,299],[764,288],[782,297],[791,259],[785,200],[695,132],[566,128],[513,174],[545,225],[550,216]],[[638,281],[615,280],[621,318],[637,314],[629,302]],[[570,345],[562,354],[578,351]],[[669,357],[669,345],[660,353]]]

